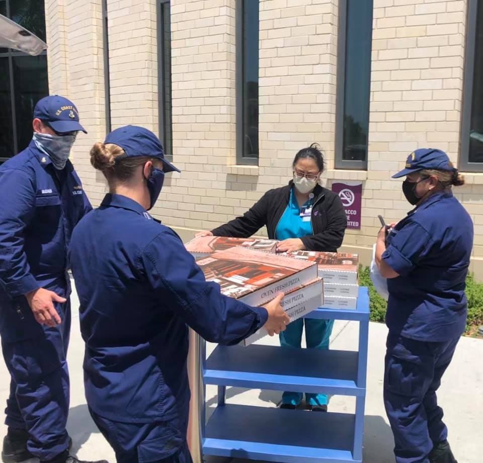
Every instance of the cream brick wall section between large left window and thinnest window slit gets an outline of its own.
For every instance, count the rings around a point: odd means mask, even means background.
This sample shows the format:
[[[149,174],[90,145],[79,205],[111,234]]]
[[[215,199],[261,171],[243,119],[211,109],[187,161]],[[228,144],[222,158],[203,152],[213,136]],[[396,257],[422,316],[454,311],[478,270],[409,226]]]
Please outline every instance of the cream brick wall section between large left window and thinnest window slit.
[[[101,1],[47,0],[45,5],[49,91],[72,100],[81,123],[71,160],[93,204],[105,183],[91,167],[89,151],[105,137],[104,71]]]

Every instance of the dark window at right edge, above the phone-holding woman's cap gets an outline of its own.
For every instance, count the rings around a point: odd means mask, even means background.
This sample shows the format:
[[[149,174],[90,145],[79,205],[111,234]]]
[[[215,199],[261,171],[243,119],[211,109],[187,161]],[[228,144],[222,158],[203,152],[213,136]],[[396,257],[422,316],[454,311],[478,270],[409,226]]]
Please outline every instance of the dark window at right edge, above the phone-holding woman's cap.
[[[468,1],[461,170],[483,172],[483,0]]]

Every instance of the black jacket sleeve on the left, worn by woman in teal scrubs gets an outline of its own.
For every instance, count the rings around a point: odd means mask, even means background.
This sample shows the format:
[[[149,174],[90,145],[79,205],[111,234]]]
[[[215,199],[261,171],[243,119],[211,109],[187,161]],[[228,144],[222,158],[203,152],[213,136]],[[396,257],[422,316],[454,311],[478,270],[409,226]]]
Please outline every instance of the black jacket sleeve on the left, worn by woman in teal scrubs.
[[[267,224],[268,193],[265,193],[247,212],[211,230],[215,237],[249,238]]]

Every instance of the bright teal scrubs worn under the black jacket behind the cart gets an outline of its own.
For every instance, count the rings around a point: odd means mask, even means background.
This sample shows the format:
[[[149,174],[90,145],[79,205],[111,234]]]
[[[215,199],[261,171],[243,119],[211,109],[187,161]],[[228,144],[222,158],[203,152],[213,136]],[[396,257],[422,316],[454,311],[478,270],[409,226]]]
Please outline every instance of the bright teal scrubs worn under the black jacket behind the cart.
[[[305,217],[300,215],[301,208],[298,206],[297,198],[293,194],[293,188],[290,192],[290,199],[287,207],[277,224],[275,238],[277,240],[287,240],[289,238],[300,238],[312,235],[312,223],[310,221],[310,213]],[[309,209],[313,199],[309,199],[303,206],[302,210]],[[302,212],[303,214],[303,212]],[[334,320],[314,320],[314,319],[298,319],[287,325],[287,329],[280,333],[280,345],[290,347],[301,347],[302,332],[305,324],[305,342],[307,348],[327,350],[329,349],[329,341],[334,327]],[[282,396],[283,404],[299,405],[302,401],[302,393],[284,392]],[[307,404],[312,406],[327,405],[328,397],[326,394],[306,393],[305,399]]]

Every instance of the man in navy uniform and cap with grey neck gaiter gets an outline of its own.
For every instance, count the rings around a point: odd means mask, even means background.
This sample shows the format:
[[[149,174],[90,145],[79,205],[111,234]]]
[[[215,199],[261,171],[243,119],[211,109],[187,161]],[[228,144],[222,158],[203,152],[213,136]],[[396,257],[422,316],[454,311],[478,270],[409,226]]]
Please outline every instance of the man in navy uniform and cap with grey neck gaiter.
[[[2,459],[74,463],[65,429],[67,248],[92,208],[68,157],[77,132],[86,131],[60,96],[37,103],[33,130],[29,146],[0,167],[0,336],[11,375]]]

